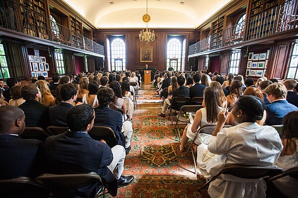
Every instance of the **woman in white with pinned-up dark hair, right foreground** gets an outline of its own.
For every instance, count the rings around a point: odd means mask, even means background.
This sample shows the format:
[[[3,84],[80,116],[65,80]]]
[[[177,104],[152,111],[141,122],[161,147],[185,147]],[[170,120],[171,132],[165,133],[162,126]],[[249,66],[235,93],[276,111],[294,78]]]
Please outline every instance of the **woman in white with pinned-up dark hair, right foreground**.
[[[260,126],[264,102],[254,96],[243,96],[233,104],[236,126],[223,128],[228,117],[224,110],[218,115],[218,124],[209,145],[198,146],[198,166],[211,179],[226,164],[272,165],[282,151],[278,132],[271,126]],[[232,189],[232,190],[231,190]],[[211,198],[265,198],[263,179],[247,180],[228,175],[220,176],[209,185]]]

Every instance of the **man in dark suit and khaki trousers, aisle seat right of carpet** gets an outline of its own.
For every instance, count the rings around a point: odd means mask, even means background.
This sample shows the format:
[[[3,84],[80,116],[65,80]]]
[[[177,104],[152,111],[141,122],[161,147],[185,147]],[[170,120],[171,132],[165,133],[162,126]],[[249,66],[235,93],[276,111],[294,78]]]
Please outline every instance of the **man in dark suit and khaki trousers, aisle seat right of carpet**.
[[[174,97],[189,97],[189,88],[184,86],[185,78],[183,76],[178,76],[177,82],[178,82],[178,89],[173,91],[172,98],[174,98]],[[186,103],[172,102],[172,99],[165,99],[163,102],[162,111],[158,115],[161,117],[165,117],[165,112],[169,105],[172,105],[173,109],[179,110],[181,108],[181,106],[183,106],[185,104]]]

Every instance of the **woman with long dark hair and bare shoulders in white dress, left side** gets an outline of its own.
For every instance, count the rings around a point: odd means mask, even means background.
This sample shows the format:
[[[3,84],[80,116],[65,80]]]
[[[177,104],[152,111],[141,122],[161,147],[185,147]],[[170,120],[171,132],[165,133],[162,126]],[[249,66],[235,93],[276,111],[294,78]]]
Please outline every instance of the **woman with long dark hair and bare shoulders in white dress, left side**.
[[[88,94],[82,96],[82,103],[89,104],[92,107],[98,106],[97,91],[99,85],[96,81],[91,81],[88,85]]]

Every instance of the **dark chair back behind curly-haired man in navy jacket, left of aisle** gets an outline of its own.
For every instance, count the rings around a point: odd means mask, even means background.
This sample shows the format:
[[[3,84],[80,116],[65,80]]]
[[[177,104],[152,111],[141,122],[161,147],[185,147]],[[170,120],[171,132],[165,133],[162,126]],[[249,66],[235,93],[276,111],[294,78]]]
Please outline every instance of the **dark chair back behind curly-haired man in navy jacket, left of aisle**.
[[[117,145],[116,135],[110,127],[93,126],[88,134],[94,140],[106,141],[111,148]]]

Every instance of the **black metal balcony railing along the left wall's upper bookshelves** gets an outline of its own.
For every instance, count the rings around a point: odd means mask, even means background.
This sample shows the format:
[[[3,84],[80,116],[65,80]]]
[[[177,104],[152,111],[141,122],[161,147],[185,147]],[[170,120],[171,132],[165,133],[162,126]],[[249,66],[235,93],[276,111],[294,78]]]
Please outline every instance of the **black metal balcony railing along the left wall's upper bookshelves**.
[[[0,0],[0,27],[104,55],[104,47],[13,1]]]

